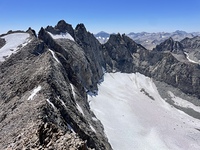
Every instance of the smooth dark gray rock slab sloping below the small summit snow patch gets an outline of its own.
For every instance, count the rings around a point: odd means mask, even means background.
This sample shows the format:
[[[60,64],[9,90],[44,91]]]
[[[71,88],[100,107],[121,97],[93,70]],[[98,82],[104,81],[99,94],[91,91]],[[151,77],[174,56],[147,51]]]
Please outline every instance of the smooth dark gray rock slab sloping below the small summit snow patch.
[[[40,30],[39,38],[58,54],[58,59],[64,64],[64,68],[70,69],[70,78],[78,76],[78,82],[82,88],[91,91],[97,90],[98,81],[94,81],[96,75],[93,75],[90,67],[95,62],[88,61],[89,57],[76,42],[68,39],[54,40],[44,29]]]

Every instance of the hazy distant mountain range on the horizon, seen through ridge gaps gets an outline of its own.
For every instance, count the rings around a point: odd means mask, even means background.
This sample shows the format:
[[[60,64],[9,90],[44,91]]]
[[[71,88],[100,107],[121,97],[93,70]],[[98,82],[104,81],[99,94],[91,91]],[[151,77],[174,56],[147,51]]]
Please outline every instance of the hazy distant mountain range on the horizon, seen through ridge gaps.
[[[157,32],[157,33],[148,33],[148,32],[131,32],[127,34],[132,38],[136,43],[141,44],[145,48],[152,50],[156,45],[164,42],[168,38],[172,38],[175,41],[181,41],[184,38],[193,38],[200,35],[200,32],[187,33],[185,31],[177,30],[175,32]],[[101,31],[95,34],[95,37],[99,40],[100,43],[106,43],[109,39],[110,34],[104,31]]]

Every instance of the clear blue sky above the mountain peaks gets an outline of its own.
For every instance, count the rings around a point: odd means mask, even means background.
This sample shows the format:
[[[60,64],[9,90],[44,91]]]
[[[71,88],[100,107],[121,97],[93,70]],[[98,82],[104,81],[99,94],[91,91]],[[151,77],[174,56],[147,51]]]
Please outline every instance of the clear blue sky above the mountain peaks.
[[[200,31],[200,0],[0,0],[0,34],[64,19],[92,33]]]

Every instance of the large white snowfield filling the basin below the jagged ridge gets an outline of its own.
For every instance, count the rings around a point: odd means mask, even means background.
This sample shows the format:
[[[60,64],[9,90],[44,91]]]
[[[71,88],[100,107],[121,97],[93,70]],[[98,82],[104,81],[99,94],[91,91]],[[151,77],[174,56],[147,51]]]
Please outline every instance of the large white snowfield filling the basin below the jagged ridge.
[[[98,95],[88,95],[88,101],[114,150],[200,149],[200,120],[166,103],[142,74],[106,73]]]

